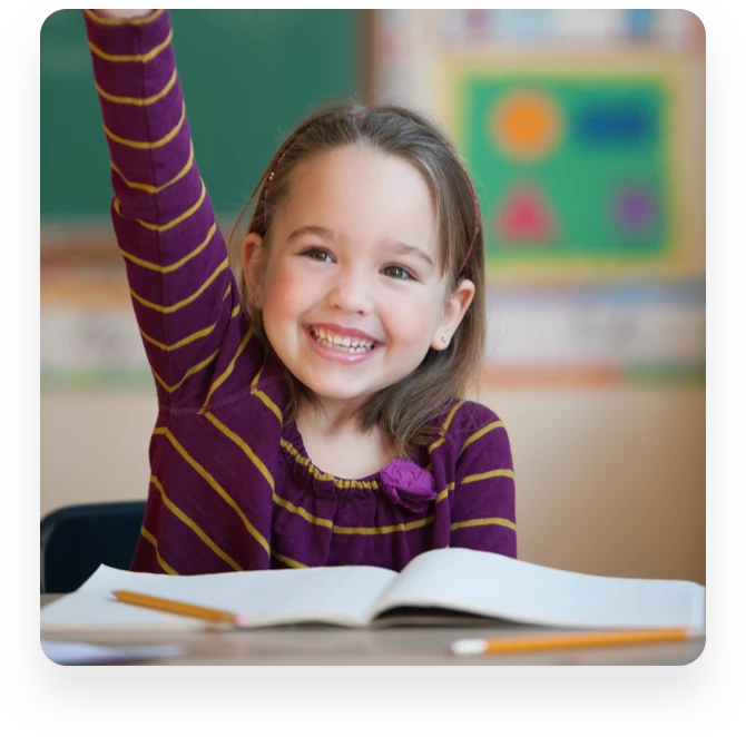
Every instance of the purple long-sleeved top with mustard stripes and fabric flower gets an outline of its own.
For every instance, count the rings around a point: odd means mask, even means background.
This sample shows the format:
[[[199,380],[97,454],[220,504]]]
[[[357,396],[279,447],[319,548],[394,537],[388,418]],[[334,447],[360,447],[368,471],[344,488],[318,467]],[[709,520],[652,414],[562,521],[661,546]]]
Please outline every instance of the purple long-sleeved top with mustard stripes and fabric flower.
[[[111,157],[111,219],[156,381],[150,484],[132,570],[401,570],[433,548],[517,556],[505,429],[453,400],[416,463],[341,479],[308,459],[278,366],[243,315],[194,160],[168,11],[85,12]]]

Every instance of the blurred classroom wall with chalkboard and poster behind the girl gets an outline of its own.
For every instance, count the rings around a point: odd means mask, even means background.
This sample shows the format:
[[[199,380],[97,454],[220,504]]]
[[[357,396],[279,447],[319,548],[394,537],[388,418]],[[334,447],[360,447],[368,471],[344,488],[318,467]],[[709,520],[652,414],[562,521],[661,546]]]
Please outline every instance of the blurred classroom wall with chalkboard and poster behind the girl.
[[[520,557],[704,583],[701,21],[684,9],[171,19],[226,233],[281,131],[320,102],[401,101],[449,130],[484,218],[490,341],[475,399],[512,441]],[[88,55],[79,11],[52,13],[41,30],[40,515],[144,499],[156,419],[108,220]]]

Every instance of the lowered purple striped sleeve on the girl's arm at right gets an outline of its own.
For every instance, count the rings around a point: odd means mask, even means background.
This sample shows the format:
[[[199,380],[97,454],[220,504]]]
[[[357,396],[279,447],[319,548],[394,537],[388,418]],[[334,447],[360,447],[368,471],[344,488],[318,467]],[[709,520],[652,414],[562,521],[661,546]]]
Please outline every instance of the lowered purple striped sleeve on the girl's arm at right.
[[[504,424],[479,406],[460,438],[450,544],[516,558],[516,479]]]

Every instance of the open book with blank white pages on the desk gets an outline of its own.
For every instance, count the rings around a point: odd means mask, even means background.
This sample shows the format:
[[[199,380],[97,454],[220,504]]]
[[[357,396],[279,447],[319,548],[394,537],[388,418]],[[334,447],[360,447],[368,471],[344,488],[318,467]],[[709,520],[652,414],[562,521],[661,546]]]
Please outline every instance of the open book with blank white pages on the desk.
[[[41,609],[41,636],[214,627],[120,602],[111,594],[117,589],[225,609],[249,628],[382,627],[435,622],[440,615],[441,625],[477,617],[560,628],[705,630],[705,587],[693,581],[589,576],[446,548],[422,553],[400,573],[350,566],[176,577],[101,566],[77,591]]]

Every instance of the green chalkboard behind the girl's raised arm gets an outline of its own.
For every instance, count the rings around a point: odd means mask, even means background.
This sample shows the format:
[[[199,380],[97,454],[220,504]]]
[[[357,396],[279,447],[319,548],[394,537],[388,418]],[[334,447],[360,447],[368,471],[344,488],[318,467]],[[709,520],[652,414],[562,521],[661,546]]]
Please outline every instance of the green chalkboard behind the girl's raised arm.
[[[362,97],[355,9],[177,9],[174,48],[215,209],[233,215],[281,136],[315,106]],[[40,219],[108,217],[110,174],[82,13],[41,27]]]

